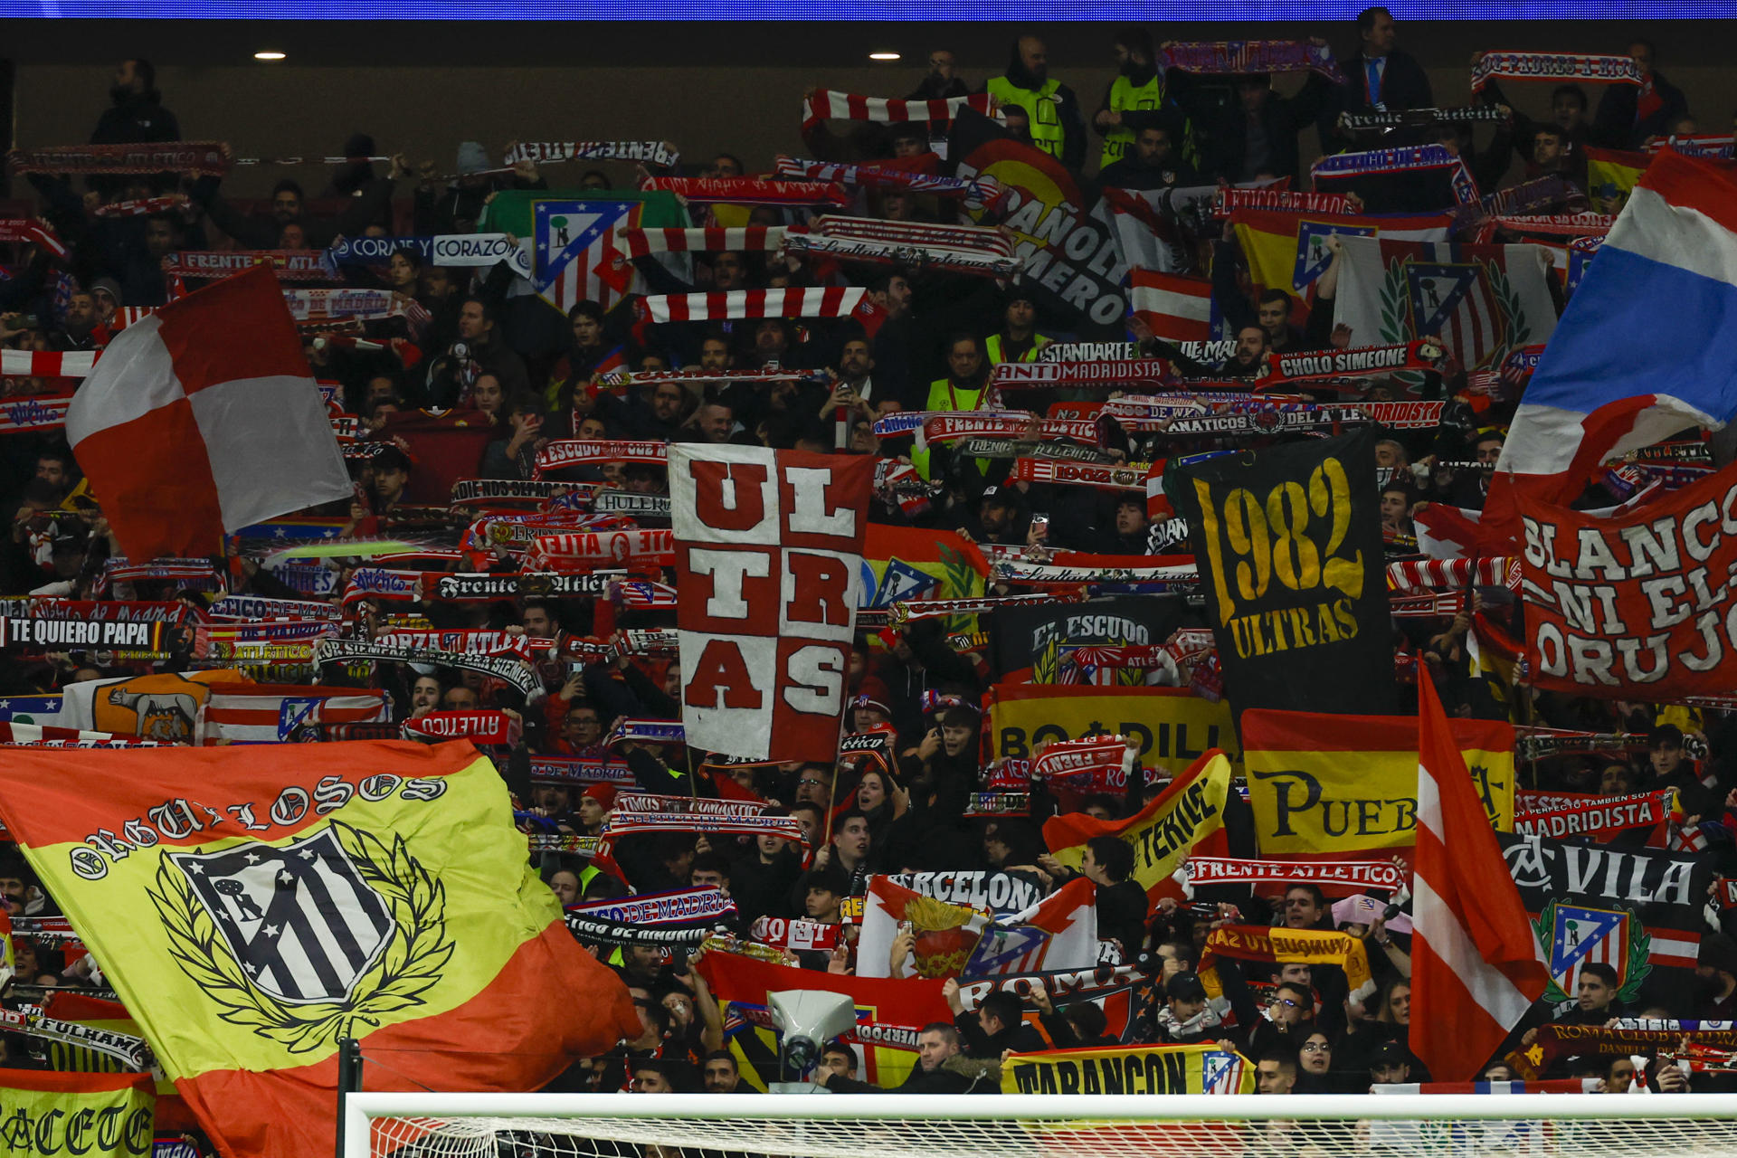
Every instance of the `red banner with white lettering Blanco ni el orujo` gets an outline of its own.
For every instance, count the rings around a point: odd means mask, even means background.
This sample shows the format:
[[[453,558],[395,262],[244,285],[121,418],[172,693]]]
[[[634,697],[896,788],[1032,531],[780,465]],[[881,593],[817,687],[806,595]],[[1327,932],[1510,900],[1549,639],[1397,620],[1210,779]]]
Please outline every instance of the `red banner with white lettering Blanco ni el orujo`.
[[[1737,684],[1737,472],[1595,519],[1520,500],[1539,688],[1678,700]]]

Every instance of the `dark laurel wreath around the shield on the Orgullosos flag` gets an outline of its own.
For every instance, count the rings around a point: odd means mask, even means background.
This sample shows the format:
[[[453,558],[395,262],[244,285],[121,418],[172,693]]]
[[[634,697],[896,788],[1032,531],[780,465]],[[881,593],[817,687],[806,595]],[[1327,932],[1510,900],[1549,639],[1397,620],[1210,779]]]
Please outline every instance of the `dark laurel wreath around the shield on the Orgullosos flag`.
[[[396,922],[380,962],[358,979],[346,1002],[292,1005],[257,988],[217,932],[191,882],[167,858],[156,866],[156,887],[146,889],[168,932],[170,957],[205,997],[222,1005],[217,1016],[287,1045],[292,1054],[361,1036],[377,1028],[382,1016],[422,1005],[422,993],[439,983],[453,953],[445,922],[446,887],[410,856],[405,839],[393,835],[387,845],[342,821],[332,821],[332,828],[363,882],[386,899]]]

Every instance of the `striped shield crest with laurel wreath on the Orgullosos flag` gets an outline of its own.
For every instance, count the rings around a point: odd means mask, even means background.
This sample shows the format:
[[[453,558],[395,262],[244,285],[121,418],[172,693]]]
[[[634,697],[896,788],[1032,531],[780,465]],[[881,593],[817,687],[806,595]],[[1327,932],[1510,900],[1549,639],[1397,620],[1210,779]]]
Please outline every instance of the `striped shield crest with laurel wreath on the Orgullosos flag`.
[[[420,1005],[453,951],[445,885],[403,837],[342,821],[287,845],[168,852],[149,896],[217,1016],[294,1054]]]

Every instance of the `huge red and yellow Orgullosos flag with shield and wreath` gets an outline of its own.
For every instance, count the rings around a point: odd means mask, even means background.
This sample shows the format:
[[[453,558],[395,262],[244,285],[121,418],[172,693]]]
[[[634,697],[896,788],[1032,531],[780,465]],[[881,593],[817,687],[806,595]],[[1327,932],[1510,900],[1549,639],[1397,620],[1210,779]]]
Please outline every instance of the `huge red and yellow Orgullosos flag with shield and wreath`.
[[[532,1090],[637,1033],[469,743],[14,748],[0,816],[226,1158],[332,1153],[340,1036]]]

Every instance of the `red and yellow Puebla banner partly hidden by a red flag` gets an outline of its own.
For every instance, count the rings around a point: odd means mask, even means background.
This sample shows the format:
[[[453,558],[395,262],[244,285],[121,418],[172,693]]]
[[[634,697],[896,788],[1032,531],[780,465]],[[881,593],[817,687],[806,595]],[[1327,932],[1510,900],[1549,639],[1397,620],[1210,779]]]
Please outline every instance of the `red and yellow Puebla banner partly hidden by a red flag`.
[[[1513,832],[1513,727],[1450,720],[1490,825]],[[1261,856],[1405,849],[1417,842],[1417,720],[1242,714],[1244,769]]]

